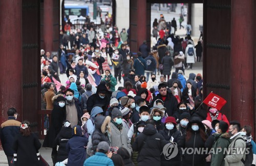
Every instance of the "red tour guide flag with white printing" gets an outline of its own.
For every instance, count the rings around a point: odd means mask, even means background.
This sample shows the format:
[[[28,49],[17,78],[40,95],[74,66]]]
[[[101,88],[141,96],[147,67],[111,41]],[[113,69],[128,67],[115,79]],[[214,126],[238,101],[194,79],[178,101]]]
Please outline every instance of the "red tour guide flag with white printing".
[[[226,104],[226,102],[227,101],[225,99],[212,92],[204,99],[204,103],[206,105],[217,108],[218,110],[221,110],[221,108],[223,107],[223,105]]]

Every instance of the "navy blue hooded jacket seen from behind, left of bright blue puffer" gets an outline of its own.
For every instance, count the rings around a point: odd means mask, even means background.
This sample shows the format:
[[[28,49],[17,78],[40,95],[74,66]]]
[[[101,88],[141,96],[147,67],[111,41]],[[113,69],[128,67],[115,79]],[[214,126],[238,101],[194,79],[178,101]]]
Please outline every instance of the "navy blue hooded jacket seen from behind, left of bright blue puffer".
[[[80,126],[73,126],[73,137],[69,139],[66,149],[69,154],[68,166],[82,165],[86,160],[86,146],[88,143],[87,137],[82,136],[82,129]]]

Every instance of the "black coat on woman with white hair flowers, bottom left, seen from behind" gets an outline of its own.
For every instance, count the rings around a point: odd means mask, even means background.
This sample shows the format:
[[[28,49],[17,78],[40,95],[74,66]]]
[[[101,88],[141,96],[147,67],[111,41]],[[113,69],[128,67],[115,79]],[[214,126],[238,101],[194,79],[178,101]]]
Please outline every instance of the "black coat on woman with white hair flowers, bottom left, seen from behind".
[[[17,134],[15,136],[12,147],[13,150],[17,153],[17,161],[15,161],[15,165],[40,165],[36,155],[40,147],[41,143],[34,133],[30,134],[29,136],[23,136],[20,133]]]

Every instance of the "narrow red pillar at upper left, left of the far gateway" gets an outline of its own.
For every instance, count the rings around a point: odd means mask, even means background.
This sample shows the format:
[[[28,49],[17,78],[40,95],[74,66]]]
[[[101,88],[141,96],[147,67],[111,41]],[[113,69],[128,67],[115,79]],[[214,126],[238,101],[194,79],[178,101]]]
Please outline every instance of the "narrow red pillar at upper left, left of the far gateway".
[[[53,51],[53,1],[44,0],[44,48]]]

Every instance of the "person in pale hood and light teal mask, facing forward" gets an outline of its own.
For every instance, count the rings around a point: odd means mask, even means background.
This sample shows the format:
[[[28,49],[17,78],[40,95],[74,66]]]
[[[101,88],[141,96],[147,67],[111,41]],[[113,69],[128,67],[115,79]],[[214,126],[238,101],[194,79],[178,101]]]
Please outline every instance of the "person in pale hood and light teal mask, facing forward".
[[[159,108],[153,108],[151,110],[150,118],[155,121],[157,131],[164,129],[164,124],[161,122],[162,117],[164,117],[164,113]]]

